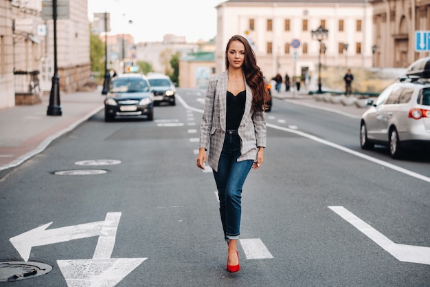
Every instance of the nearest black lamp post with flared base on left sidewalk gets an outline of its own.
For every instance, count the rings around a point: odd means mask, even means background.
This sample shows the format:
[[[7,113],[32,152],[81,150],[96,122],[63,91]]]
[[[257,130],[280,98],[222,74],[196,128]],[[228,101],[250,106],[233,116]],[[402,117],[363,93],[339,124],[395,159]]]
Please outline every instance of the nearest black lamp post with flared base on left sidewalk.
[[[57,66],[57,0],[52,0],[52,19],[54,20],[54,76],[52,77],[52,87],[46,114],[47,116],[61,116],[60,76],[58,75]]]

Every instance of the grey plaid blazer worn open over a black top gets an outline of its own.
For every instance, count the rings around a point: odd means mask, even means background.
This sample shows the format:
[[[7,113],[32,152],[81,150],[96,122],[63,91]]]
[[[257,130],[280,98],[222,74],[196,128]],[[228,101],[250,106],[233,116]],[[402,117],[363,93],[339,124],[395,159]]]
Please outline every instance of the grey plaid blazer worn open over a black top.
[[[214,171],[218,171],[227,127],[227,79],[227,71],[210,77],[200,125],[199,148],[209,148],[207,163]],[[266,116],[264,111],[252,108],[251,88],[246,83],[245,85],[245,112],[238,128],[241,153],[238,161],[256,161],[258,147],[266,147]]]

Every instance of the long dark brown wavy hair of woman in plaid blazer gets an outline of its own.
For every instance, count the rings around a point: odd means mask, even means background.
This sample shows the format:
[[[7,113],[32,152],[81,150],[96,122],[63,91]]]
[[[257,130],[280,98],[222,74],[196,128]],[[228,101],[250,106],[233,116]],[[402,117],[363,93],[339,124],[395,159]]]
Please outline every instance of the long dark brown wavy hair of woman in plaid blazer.
[[[267,109],[267,100],[269,99],[266,81],[264,81],[263,73],[257,65],[256,54],[254,54],[251,45],[249,45],[245,37],[234,35],[229,39],[225,48],[225,67],[228,69],[230,66],[227,52],[232,41],[239,41],[245,46],[245,61],[243,61],[242,70],[245,74],[245,80],[252,90],[252,107],[255,110],[264,111]]]

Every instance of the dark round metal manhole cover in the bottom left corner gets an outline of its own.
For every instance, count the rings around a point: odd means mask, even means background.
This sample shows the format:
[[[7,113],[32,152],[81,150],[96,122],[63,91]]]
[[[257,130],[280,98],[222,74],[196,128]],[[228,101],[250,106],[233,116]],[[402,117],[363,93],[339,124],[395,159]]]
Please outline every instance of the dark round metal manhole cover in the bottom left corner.
[[[52,266],[38,262],[0,262],[0,282],[29,279],[51,270]]]

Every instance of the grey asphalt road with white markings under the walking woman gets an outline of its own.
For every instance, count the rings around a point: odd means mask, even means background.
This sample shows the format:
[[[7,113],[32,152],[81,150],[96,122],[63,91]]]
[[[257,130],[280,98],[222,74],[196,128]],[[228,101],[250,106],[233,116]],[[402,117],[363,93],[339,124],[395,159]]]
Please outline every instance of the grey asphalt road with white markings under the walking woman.
[[[430,161],[362,153],[357,118],[278,99],[227,273],[216,186],[195,165],[204,94],[179,95],[153,122],[100,112],[0,182],[0,261],[52,266],[0,286],[429,286]]]

